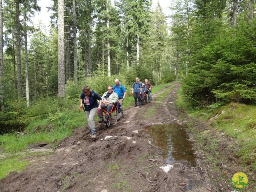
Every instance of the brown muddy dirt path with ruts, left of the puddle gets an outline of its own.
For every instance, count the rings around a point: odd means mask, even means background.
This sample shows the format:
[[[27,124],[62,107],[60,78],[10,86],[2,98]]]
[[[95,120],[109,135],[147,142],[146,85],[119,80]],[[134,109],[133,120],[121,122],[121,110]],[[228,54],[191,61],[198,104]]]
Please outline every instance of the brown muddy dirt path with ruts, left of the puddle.
[[[97,138],[92,140],[87,126],[74,130],[54,150],[31,155],[30,166],[12,172],[0,181],[0,192],[208,192],[216,190],[206,169],[197,158],[194,167],[176,162],[166,166],[162,150],[145,131],[152,124],[180,122],[172,85],[163,104],[156,102],[142,108],[125,110],[125,118],[115,126],[97,124]],[[166,90],[166,88],[164,89]],[[163,90],[162,90],[163,91]],[[161,91],[161,92],[162,92]],[[152,118],[144,113],[156,108]],[[169,117],[169,118],[168,118]],[[40,147],[38,147],[40,148]]]

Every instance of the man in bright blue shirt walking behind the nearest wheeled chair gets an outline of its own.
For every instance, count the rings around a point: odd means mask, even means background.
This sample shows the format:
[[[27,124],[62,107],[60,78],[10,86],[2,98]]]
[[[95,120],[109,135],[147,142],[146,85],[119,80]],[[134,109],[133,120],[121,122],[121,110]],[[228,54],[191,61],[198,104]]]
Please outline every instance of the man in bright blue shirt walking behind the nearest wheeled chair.
[[[115,80],[113,90],[114,90],[114,92],[116,92],[118,94],[118,102],[120,104],[120,107],[119,107],[120,114],[118,114],[117,120],[120,120],[120,118],[124,118],[123,100],[126,95],[126,90],[125,90],[124,86],[119,83],[118,79]]]

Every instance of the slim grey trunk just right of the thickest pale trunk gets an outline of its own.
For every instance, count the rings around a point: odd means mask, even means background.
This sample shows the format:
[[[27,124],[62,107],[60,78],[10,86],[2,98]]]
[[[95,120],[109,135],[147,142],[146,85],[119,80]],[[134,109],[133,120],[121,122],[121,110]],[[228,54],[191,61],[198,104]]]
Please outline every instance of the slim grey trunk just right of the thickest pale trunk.
[[[73,0],[74,80],[77,81],[76,0]]]

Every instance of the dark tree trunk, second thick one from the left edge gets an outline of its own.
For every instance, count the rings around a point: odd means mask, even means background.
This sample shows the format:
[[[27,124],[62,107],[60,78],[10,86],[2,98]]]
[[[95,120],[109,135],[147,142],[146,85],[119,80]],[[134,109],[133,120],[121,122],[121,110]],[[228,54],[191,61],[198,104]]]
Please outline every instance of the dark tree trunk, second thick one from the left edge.
[[[20,57],[20,0],[16,0],[16,46],[17,46],[18,96],[22,97],[22,74],[21,74],[21,57]]]

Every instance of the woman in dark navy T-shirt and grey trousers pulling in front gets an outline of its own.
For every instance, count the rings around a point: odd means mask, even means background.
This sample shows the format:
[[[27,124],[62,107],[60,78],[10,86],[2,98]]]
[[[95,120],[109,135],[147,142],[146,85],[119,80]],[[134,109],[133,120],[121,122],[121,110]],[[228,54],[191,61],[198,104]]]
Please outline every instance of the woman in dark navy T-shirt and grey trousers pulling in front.
[[[96,138],[96,128],[94,123],[94,116],[98,109],[101,109],[102,98],[94,91],[90,91],[90,87],[84,86],[83,92],[80,95],[80,108],[84,104],[84,110],[87,118],[88,126],[91,130],[90,137]],[[97,102],[99,100],[99,104]]]

